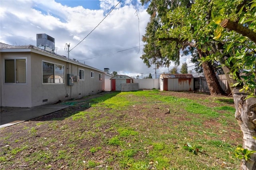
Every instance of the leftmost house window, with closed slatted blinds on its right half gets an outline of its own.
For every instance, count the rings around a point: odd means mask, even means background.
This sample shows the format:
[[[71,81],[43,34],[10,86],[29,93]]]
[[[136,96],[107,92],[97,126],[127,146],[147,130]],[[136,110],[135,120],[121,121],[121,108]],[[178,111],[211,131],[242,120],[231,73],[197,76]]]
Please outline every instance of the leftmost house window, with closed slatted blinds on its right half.
[[[5,83],[26,83],[26,59],[5,59]]]

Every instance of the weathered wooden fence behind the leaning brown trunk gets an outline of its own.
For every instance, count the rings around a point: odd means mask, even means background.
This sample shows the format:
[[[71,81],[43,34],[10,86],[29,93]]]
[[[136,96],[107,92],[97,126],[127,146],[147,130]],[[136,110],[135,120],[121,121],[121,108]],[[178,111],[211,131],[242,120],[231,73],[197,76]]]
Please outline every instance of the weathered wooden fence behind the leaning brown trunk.
[[[230,93],[230,89],[228,86],[228,81],[225,75],[217,75],[218,81],[220,82],[220,86],[226,93]],[[194,90],[202,91],[206,93],[210,93],[209,87],[204,76],[194,78]]]

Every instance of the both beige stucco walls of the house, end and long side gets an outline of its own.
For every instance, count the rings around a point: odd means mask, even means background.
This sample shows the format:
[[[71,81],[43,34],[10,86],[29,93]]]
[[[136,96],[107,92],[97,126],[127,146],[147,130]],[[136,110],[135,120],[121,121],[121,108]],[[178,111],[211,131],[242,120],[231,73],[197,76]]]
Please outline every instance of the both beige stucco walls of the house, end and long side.
[[[5,84],[4,82],[4,58],[26,57],[27,58],[27,83]],[[63,59],[62,59],[63,60]],[[6,107],[34,107],[52,104],[69,99],[76,99],[86,95],[104,91],[104,72],[83,67],[68,60],[62,61],[33,52],[8,52],[1,53],[1,106]],[[42,83],[42,61],[64,65],[64,83]],[[78,75],[78,69],[84,69],[84,80],[74,82],[73,86],[67,85],[67,74]],[[91,71],[94,78],[91,78]],[[99,80],[102,74],[102,81]],[[46,100],[44,101],[43,100]]]

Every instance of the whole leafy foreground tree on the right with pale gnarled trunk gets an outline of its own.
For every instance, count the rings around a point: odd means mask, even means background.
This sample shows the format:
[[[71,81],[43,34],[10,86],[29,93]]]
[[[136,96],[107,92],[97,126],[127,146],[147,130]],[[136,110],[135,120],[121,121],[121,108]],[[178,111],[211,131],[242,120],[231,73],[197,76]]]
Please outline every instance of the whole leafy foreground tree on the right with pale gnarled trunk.
[[[219,61],[229,85],[238,87],[232,93],[244,142],[236,155],[242,158],[241,169],[255,170],[256,0],[197,0],[189,10],[170,11],[168,18],[175,26],[162,26],[160,37],[196,47],[203,67]]]

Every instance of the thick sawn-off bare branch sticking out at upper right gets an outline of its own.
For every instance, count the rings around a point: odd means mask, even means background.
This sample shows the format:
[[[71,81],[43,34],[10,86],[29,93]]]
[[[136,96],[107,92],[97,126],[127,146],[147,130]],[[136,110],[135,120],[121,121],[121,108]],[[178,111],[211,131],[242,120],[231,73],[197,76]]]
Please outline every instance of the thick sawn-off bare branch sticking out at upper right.
[[[253,30],[250,30],[249,28],[244,27],[242,24],[238,24],[234,21],[224,19],[220,23],[220,26],[222,26],[223,28],[227,28],[229,30],[234,30],[239,34],[242,34],[243,36],[248,37],[250,40],[252,40],[256,44],[256,32],[253,32]]]

